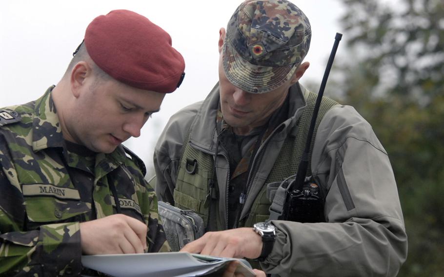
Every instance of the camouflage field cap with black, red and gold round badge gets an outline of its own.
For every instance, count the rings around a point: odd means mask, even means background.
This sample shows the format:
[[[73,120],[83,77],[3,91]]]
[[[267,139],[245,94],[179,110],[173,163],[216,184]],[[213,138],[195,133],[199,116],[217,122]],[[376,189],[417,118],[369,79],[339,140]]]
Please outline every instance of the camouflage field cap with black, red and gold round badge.
[[[246,0],[227,25],[223,69],[250,93],[266,93],[291,78],[308,52],[310,22],[287,0]]]

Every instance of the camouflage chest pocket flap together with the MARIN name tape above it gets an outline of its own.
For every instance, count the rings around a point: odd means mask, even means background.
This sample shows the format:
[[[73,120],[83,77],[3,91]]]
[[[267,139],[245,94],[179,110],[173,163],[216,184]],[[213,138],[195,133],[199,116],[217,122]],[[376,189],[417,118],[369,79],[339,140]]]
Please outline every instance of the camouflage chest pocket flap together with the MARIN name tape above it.
[[[29,220],[28,230],[37,229],[42,223],[84,221],[79,216],[91,211],[91,207],[81,202],[76,189],[50,184],[26,184],[22,185],[22,193]]]

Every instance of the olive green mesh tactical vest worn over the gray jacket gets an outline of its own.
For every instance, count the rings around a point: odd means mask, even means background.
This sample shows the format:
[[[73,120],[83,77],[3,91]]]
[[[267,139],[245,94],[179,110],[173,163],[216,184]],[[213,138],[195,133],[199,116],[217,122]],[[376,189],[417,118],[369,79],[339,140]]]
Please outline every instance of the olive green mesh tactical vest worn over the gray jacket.
[[[297,123],[298,132],[296,138],[293,136],[287,136],[287,138],[284,140],[283,147],[281,148],[278,158],[276,159],[260,193],[253,202],[253,205],[251,206],[251,211],[246,221],[244,221],[243,226],[252,227],[254,223],[262,222],[269,218],[269,207],[271,203],[267,197],[266,184],[270,182],[281,181],[291,175],[296,174],[296,172],[298,171],[299,162],[303,154],[311,117],[316,103],[316,98],[317,94],[309,92],[306,99],[307,105]],[[319,123],[321,122],[321,119],[323,118],[325,113],[336,104],[338,104],[338,102],[323,97],[316,120],[314,134],[316,134]],[[209,193],[209,183],[210,181],[212,181],[213,178],[214,158],[211,154],[204,153],[191,147],[189,143],[190,133],[191,130],[188,131],[188,135],[186,136],[184,145],[182,147],[183,153],[178,168],[176,187],[173,195],[174,202],[176,207],[184,210],[194,210],[203,218],[205,225],[208,226],[207,220],[209,203],[206,199],[208,199],[207,195]],[[313,139],[311,141],[310,157],[313,149],[314,140],[315,135],[313,136]],[[194,160],[196,160],[197,162],[194,163],[193,167],[190,164],[193,164],[192,161]],[[288,162],[289,160],[291,162]],[[311,160],[311,158],[309,160]],[[309,161],[306,176],[311,175],[310,163],[311,161]],[[221,197],[223,197],[224,195],[224,193],[220,194]],[[218,205],[214,205],[212,206],[212,208],[216,207],[216,209],[218,209],[217,206]],[[213,212],[215,213],[215,215],[219,214],[219,211],[217,210],[211,211],[211,213]],[[209,225],[217,226],[217,230],[225,229],[224,226],[221,226],[220,220],[215,221],[216,222],[209,222]]]

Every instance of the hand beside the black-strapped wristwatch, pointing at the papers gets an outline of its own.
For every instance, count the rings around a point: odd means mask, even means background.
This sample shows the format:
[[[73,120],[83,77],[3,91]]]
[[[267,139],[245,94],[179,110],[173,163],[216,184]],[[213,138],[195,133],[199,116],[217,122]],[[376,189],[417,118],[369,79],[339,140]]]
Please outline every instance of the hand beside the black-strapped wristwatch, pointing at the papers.
[[[262,237],[253,228],[207,232],[185,245],[181,252],[229,258],[257,258],[262,252]]]

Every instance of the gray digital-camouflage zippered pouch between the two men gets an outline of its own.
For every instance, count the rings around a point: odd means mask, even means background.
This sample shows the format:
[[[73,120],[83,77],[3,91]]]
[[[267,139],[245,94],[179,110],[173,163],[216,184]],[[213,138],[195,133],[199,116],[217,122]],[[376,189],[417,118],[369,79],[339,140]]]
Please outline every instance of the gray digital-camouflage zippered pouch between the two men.
[[[203,219],[190,210],[182,210],[163,201],[158,201],[163,230],[171,249],[176,252],[185,244],[202,237]]]

